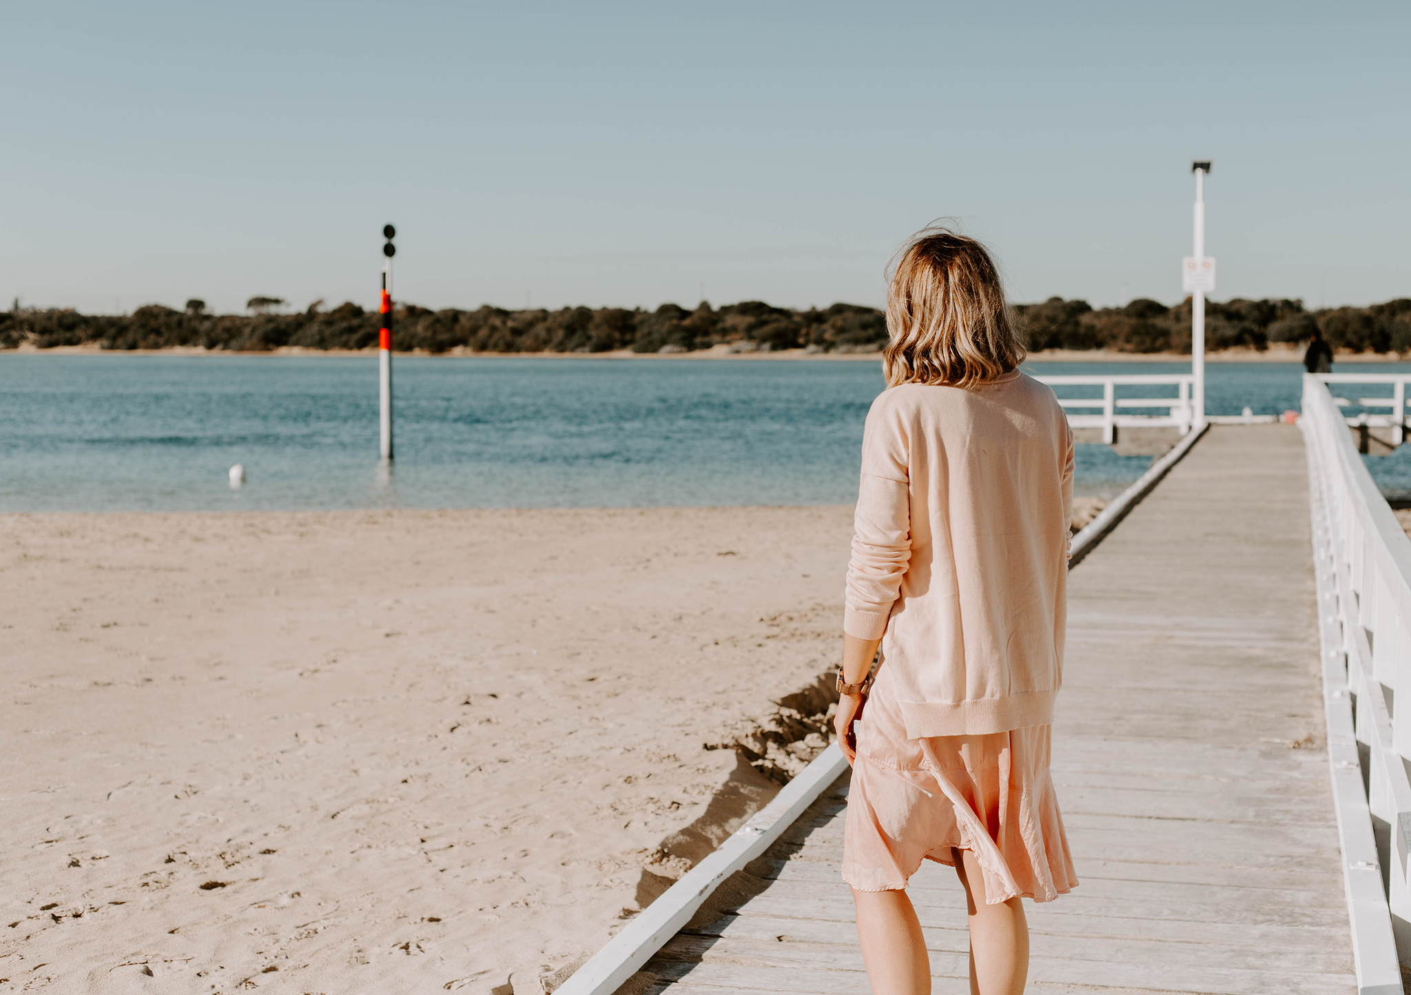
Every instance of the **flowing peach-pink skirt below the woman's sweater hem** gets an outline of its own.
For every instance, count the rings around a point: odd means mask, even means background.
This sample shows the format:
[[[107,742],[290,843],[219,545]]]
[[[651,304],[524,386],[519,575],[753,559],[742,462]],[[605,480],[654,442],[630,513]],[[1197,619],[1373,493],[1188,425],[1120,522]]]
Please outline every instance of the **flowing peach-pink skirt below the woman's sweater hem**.
[[[921,860],[975,854],[985,902],[1050,902],[1078,876],[1048,776],[1048,725],[907,740],[883,663],[858,723],[842,879],[906,888]]]

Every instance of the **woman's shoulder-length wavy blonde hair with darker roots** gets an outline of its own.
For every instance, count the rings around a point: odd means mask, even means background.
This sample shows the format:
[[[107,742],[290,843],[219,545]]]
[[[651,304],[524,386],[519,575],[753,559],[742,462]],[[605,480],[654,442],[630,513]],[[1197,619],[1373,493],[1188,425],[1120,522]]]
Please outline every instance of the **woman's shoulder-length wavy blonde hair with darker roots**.
[[[974,387],[1027,354],[1009,320],[999,270],[974,239],[930,226],[897,250],[882,350],[886,385]]]

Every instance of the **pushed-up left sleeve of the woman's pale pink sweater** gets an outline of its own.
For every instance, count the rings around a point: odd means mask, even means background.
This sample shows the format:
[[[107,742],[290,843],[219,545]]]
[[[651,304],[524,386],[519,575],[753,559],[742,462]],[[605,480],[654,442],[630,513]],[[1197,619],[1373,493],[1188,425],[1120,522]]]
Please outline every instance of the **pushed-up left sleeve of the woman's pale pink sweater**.
[[[912,560],[907,439],[890,405],[873,404],[862,435],[862,477],[842,631],[880,639]]]

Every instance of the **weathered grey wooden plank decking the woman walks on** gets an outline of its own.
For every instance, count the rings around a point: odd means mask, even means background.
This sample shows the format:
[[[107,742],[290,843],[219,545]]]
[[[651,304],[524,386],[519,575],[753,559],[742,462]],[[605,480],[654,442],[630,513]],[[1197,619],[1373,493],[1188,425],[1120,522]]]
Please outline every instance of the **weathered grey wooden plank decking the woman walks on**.
[[[1318,677],[1304,443],[1215,426],[1070,576],[1054,782],[1081,885],[1026,902],[1034,992],[1355,992]],[[629,988],[868,992],[847,776]],[[913,878],[934,991],[964,893]]]

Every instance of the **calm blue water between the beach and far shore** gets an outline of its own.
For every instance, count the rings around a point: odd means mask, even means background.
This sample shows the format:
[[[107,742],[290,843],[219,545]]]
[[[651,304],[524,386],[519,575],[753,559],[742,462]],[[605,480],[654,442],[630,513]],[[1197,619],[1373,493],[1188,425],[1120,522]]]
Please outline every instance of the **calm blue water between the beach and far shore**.
[[[1208,370],[1211,414],[1298,408],[1298,366]],[[851,504],[882,385],[861,361],[399,357],[388,473],[375,358],[8,354],[0,511]],[[1369,459],[1398,494],[1401,453]],[[233,463],[248,474],[238,491]],[[1149,463],[1079,446],[1077,490],[1112,495]]]

